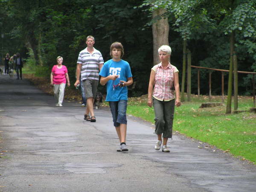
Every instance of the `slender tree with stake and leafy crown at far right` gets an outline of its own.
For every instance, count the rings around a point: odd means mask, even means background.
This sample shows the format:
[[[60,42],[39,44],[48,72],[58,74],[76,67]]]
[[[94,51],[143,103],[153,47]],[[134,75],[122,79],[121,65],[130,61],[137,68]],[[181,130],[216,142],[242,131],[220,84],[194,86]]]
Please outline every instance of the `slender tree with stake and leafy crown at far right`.
[[[223,8],[226,10],[224,19],[220,26],[224,29],[224,33],[230,34],[230,70],[234,71],[234,109],[238,108],[238,66],[237,55],[235,53],[236,34],[242,34],[246,38],[256,38],[256,0],[232,0],[229,3],[224,2]],[[239,41],[243,43],[244,41]],[[236,53],[235,53],[236,54]],[[232,66],[231,66],[232,65]],[[228,82],[228,99],[226,113],[231,113],[231,97],[233,73],[229,73]]]

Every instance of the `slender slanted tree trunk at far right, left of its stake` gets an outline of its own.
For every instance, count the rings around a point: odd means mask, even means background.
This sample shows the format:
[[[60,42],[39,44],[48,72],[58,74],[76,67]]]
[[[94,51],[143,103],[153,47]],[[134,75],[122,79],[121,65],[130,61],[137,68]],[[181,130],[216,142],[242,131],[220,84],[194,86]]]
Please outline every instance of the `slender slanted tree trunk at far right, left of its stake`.
[[[229,74],[228,74],[226,114],[231,113],[232,80],[233,80],[233,52],[234,52],[234,33],[231,32],[231,35],[230,35],[230,70],[229,70]]]

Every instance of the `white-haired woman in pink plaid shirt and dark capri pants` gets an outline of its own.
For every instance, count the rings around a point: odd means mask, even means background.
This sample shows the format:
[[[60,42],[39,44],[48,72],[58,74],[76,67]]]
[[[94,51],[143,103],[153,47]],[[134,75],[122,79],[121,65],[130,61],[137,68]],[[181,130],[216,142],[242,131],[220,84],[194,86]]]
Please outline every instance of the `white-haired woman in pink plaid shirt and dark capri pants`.
[[[155,134],[158,137],[155,150],[160,150],[163,134],[163,152],[170,152],[166,144],[168,138],[172,138],[175,105],[180,106],[179,71],[169,62],[171,52],[168,45],[158,49],[161,63],[151,69],[148,85],[148,106],[154,106]]]

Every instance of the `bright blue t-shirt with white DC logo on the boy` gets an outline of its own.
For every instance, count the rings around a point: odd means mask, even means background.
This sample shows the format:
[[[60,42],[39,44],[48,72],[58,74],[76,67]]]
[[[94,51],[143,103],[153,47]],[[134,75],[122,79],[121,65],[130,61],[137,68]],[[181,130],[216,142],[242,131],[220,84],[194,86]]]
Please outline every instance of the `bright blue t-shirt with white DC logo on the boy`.
[[[113,85],[117,85],[120,81],[127,82],[127,78],[132,77],[131,68],[127,61],[120,60],[118,62],[108,60],[103,65],[99,75],[102,77],[107,77],[109,75],[118,75],[116,80],[109,80],[107,82],[107,96],[106,101],[119,101],[119,100],[128,100],[128,89],[125,87],[115,87],[113,89]]]

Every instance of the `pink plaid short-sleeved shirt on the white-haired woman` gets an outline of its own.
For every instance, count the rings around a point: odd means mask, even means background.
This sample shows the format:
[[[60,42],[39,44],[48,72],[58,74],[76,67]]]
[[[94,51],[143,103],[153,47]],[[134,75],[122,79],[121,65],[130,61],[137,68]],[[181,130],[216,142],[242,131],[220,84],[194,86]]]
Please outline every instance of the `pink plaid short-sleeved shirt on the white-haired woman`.
[[[160,101],[175,99],[173,82],[174,73],[178,72],[177,68],[169,63],[166,70],[164,70],[161,62],[151,70],[155,72],[153,97]]]

